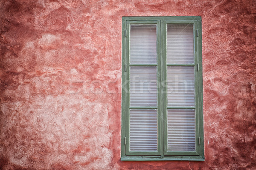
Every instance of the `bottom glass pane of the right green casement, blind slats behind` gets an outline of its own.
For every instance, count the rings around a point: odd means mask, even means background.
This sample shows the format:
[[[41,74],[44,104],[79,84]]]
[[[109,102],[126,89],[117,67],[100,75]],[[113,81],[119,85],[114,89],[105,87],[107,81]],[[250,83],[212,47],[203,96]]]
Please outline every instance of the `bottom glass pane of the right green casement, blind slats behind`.
[[[195,110],[168,109],[168,151],[195,151]]]

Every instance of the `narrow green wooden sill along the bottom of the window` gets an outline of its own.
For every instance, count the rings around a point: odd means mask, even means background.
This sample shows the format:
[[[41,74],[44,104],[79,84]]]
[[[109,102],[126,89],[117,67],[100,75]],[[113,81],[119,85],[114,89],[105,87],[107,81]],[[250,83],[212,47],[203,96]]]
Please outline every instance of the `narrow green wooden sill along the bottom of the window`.
[[[204,156],[121,156],[121,161],[204,161]]]

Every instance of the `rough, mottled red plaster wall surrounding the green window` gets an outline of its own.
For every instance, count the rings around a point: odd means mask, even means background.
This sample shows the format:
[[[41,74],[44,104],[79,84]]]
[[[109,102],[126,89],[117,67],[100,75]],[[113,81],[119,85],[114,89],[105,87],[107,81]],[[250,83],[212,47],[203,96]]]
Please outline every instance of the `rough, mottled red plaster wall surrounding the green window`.
[[[202,16],[205,161],[120,161],[122,16]],[[1,170],[255,170],[255,0],[1,0]]]

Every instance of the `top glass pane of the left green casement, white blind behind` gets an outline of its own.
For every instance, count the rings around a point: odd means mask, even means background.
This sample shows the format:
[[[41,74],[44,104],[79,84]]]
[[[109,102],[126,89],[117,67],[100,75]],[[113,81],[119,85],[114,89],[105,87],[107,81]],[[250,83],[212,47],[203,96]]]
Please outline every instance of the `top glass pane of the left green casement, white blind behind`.
[[[157,26],[131,25],[130,63],[157,63]]]

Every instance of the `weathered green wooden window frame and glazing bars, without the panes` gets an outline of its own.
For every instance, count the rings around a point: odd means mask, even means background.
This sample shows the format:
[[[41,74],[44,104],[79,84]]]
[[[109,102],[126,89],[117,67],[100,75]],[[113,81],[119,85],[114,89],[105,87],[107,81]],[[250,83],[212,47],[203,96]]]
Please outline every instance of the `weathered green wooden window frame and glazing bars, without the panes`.
[[[130,64],[129,37],[131,24],[156,24],[157,64]],[[167,24],[193,24],[194,63],[166,64]],[[203,78],[202,78],[202,28],[200,16],[189,17],[122,17],[122,161],[204,161],[203,127]],[[140,152],[129,150],[129,69],[130,66],[157,66],[157,82],[166,82],[167,66],[193,66],[195,73],[195,106],[167,107],[166,87],[157,85],[157,107],[137,107],[136,109],[157,109],[157,151]],[[161,83],[160,83],[161,84]],[[167,108],[195,109],[195,151],[167,151]]]

